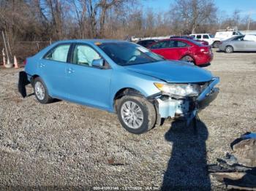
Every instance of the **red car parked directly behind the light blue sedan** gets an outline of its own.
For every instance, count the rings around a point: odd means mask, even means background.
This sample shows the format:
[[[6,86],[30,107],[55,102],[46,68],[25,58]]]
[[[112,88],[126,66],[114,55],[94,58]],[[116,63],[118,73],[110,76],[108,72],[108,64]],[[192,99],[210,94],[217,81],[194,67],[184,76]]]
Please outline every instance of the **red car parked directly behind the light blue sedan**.
[[[197,66],[207,65],[214,57],[211,47],[192,39],[163,39],[150,44],[148,48],[166,59],[188,61]]]

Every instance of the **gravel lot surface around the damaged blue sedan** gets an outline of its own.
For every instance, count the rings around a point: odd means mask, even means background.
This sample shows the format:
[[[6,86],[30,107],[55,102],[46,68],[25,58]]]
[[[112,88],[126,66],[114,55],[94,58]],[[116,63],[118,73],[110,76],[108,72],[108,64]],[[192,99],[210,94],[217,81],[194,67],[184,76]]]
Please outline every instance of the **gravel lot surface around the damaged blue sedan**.
[[[18,94],[18,71],[0,69],[1,187],[219,190],[206,164],[256,126],[256,53],[215,52],[218,98],[200,112],[197,133],[167,121],[127,133],[116,114]],[[29,93],[32,93],[29,87]]]

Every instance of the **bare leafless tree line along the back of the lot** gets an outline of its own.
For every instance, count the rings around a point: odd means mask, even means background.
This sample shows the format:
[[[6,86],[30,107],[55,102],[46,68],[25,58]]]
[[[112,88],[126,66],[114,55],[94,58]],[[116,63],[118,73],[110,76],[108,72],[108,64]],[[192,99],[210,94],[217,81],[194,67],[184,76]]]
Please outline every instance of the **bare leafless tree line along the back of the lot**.
[[[176,0],[165,12],[143,8],[143,1],[0,0],[0,29],[10,42],[215,34],[227,27],[256,29],[249,15],[241,15],[239,10],[226,15],[211,0]]]

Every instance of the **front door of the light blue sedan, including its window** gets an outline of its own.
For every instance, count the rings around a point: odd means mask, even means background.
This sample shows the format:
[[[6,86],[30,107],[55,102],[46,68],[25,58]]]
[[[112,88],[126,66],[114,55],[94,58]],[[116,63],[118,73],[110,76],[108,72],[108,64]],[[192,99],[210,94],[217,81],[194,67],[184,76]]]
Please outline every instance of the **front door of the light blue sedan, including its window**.
[[[105,61],[104,68],[92,66],[92,62],[102,58],[89,44],[74,44],[72,63],[68,63],[67,85],[69,100],[89,106],[109,109],[110,82],[112,69]]]

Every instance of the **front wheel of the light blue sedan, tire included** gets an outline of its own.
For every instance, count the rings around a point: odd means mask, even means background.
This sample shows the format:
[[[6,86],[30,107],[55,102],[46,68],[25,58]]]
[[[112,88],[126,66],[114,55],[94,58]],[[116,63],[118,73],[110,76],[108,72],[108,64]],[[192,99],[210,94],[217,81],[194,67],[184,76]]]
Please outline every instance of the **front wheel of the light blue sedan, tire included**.
[[[154,127],[156,110],[146,98],[124,95],[117,106],[118,120],[129,133],[146,133]]]

